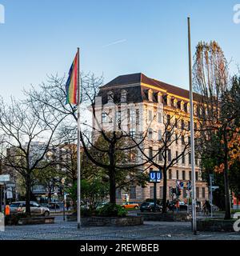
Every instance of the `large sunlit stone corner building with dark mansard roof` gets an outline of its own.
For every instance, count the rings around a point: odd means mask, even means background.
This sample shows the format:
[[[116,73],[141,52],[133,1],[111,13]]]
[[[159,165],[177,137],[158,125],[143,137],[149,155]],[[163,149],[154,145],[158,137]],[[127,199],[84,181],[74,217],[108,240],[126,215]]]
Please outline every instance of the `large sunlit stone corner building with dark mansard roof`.
[[[194,94],[194,126],[198,126],[198,94]],[[189,91],[171,86],[164,82],[148,78],[146,75],[127,74],[108,82],[100,88],[96,99],[96,119],[93,126],[102,126],[103,130],[114,130],[121,123],[121,129],[134,136],[147,132],[144,141],[146,154],[151,157],[157,152],[162,134],[166,133],[166,122],[178,122],[176,126],[182,126],[182,136],[170,143],[168,161],[181,154],[184,145],[190,141],[190,100]],[[178,118],[177,118],[178,117]],[[171,119],[170,120],[168,120]],[[181,127],[180,127],[181,128]],[[94,129],[97,130],[97,129]],[[177,131],[171,136],[177,136]],[[97,135],[93,134],[93,138]],[[177,138],[177,137],[176,137]],[[170,138],[171,139],[171,138]],[[141,152],[138,152],[136,162],[143,162]],[[162,163],[161,156],[158,163]],[[150,163],[142,166],[142,170],[149,172],[155,170]],[[209,198],[209,190],[206,182],[202,181],[201,165],[195,158],[196,172],[196,197],[199,203]],[[171,189],[176,187],[177,182],[183,182],[183,190],[180,196],[182,201],[190,198],[187,190],[187,182],[191,180],[190,150],[182,155],[167,173],[167,199],[172,199]],[[133,186],[127,192],[117,190],[117,201],[127,194],[130,201],[142,202],[146,198],[154,198],[154,184],[148,183],[146,187]],[[157,184],[157,198],[163,197],[162,181]]]

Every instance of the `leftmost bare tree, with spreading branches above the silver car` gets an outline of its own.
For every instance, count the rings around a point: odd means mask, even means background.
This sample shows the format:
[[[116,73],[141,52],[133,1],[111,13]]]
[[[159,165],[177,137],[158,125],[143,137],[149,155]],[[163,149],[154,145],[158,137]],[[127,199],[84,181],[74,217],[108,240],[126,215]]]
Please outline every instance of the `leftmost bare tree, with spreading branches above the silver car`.
[[[54,142],[62,115],[32,98],[28,102],[12,99],[10,106],[1,99],[0,128],[4,136],[5,166],[20,174],[26,185],[26,214],[30,215],[30,194],[35,170],[43,170],[42,160]],[[40,140],[44,142],[38,143]]]

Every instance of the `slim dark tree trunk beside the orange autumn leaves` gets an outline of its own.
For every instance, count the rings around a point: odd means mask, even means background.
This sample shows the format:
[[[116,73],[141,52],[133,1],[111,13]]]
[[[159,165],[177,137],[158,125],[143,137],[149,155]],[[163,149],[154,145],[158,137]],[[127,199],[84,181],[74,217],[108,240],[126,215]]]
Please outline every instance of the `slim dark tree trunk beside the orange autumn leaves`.
[[[224,187],[225,187],[225,219],[231,218],[231,209],[230,209],[230,187],[229,187],[229,178],[228,178],[228,145],[226,138],[226,130],[224,131]]]

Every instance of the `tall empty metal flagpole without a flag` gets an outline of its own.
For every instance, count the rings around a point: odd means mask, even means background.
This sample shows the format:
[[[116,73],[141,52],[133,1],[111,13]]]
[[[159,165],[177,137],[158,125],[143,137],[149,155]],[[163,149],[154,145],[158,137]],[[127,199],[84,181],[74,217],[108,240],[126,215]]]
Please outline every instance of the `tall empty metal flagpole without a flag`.
[[[190,94],[190,142],[191,142],[191,170],[192,170],[192,218],[193,231],[197,234],[197,216],[196,216],[196,182],[195,182],[195,154],[194,154],[194,104],[193,104],[193,86],[192,86],[192,56],[191,56],[191,40],[190,40],[190,18],[187,18],[188,25],[188,53],[189,53],[189,94]]]

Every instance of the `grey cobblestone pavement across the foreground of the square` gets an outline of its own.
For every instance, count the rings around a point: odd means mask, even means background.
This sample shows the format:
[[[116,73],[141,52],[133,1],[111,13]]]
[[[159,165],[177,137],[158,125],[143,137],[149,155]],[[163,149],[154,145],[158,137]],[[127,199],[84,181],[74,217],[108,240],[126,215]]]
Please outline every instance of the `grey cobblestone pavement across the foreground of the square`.
[[[54,224],[6,226],[0,240],[240,240],[240,232],[199,232],[193,235],[190,222],[144,222],[142,226],[82,227],[55,218]]]

